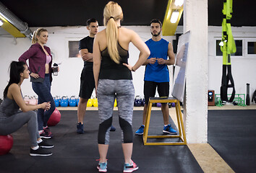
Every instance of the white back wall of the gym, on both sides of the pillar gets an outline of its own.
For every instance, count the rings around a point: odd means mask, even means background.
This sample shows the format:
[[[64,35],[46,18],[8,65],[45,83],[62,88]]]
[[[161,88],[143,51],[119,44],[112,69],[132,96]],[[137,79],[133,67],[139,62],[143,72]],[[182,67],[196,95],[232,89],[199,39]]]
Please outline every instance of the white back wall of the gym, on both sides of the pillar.
[[[151,37],[150,28],[142,26],[129,27],[135,30],[142,40],[148,40]],[[79,93],[80,73],[82,71],[82,60],[80,58],[68,58],[68,40],[80,40],[88,35],[85,27],[47,27],[49,31],[49,40],[47,45],[55,53],[54,61],[62,62],[59,76],[54,76],[52,94],[77,96]],[[103,27],[100,27],[102,30]],[[32,28],[35,30],[35,28]],[[182,32],[182,27],[177,30]],[[220,93],[221,76],[222,76],[222,58],[216,57],[216,37],[221,37],[221,27],[208,27],[208,89]],[[233,35],[236,37],[250,37],[256,39],[256,27],[232,27]],[[171,41],[175,37],[164,37]],[[15,41],[16,40],[16,41]],[[15,44],[16,43],[16,44]],[[0,97],[4,87],[9,80],[8,68],[11,61],[16,60],[20,55],[30,47],[31,43],[28,38],[14,39],[12,35],[0,28]],[[138,51],[133,45],[129,48],[129,63],[134,64],[138,57]],[[246,94],[246,84],[250,84],[250,97],[256,89],[256,57],[255,58],[234,58],[231,57],[232,74],[236,93]],[[133,74],[135,84],[135,95],[143,96],[143,77],[145,67],[140,67]],[[170,76],[172,68],[169,66]],[[22,84],[22,92],[27,95],[35,95],[29,80]],[[171,92],[170,92],[171,93]],[[252,104],[252,103],[251,103]]]

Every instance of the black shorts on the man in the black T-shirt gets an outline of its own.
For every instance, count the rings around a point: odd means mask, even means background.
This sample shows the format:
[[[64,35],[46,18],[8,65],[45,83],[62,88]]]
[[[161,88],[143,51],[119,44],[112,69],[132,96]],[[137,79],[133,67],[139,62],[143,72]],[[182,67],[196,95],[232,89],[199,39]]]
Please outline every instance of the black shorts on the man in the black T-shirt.
[[[83,99],[90,99],[93,89],[95,89],[93,71],[86,71],[85,69],[82,69],[79,97]]]

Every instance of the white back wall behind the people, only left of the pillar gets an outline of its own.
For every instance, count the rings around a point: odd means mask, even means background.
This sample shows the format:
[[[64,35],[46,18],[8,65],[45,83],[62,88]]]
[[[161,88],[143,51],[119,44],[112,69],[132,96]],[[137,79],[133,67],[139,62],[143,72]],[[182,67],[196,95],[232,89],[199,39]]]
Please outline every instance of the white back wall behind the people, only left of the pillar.
[[[103,30],[104,27],[100,27],[99,30]],[[129,29],[135,30],[140,35],[143,41],[148,40],[151,37],[150,27],[144,26],[129,26]],[[35,30],[36,28],[31,28]],[[78,96],[80,89],[80,74],[83,67],[82,58],[69,58],[68,41],[80,40],[88,35],[86,27],[46,27],[48,30],[48,43],[47,46],[54,52],[54,62],[61,62],[59,66],[60,71],[58,76],[54,76],[54,81],[51,87],[51,93],[53,96],[67,95],[68,97],[75,95]],[[163,37],[168,41],[175,39],[174,36]],[[0,97],[4,87],[9,80],[9,74],[7,72],[9,63],[11,61],[17,61],[22,53],[30,48],[30,40],[28,38],[17,38],[17,43],[14,44],[14,38],[9,35],[3,29],[0,28]],[[77,50],[78,52],[78,50]],[[129,47],[129,63],[135,64],[139,56],[139,51],[134,45]],[[133,75],[133,81],[135,85],[135,95],[143,96],[143,79],[144,79],[145,66],[140,67]],[[169,66],[170,76],[172,79],[172,67]],[[171,90],[171,87],[170,87]],[[35,93],[31,87],[29,80],[25,80],[22,84],[23,95],[33,96]],[[170,91],[171,93],[171,91]],[[93,95],[95,95],[93,93]]]

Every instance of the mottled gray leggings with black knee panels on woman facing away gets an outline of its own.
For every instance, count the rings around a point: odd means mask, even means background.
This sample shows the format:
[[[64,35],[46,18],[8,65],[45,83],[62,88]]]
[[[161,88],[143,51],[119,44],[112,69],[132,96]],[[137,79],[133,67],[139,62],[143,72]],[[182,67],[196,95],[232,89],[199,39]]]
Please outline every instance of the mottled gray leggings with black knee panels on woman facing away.
[[[115,97],[118,105],[119,125],[122,130],[122,142],[132,143],[132,115],[135,99],[132,80],[101,79],[98,81],[97,97],[100,117],[98,143],[109,144]]]

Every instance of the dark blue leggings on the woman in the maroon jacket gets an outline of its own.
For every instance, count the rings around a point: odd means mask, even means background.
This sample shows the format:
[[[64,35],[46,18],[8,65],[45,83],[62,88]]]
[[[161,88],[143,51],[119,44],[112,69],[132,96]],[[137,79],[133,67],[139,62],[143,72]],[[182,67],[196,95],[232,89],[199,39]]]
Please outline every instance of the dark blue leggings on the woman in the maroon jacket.
[[[38,109],[38,130],[43,130],[47,126],[47,122],[51,114],[55,110],[54,98],[51,96],[51,81],[49,74],[46,74],[43,83],[32,82],[32,88],[38,94],[38,104],[43,102],[51,102],[50,110]]]

